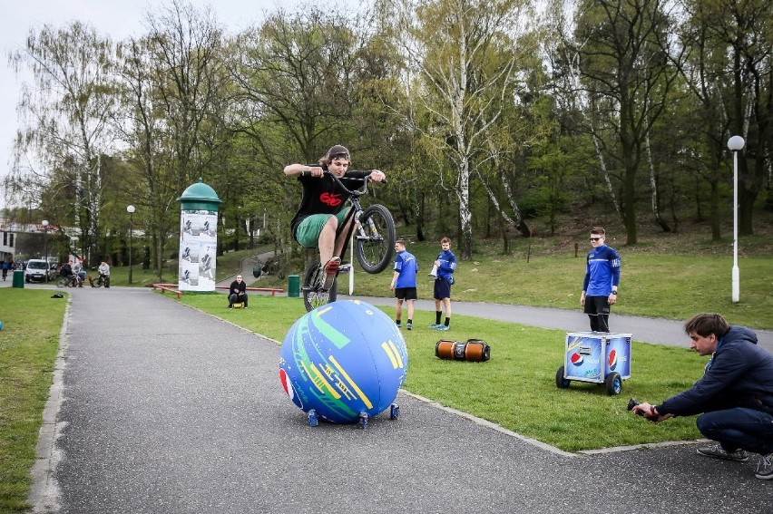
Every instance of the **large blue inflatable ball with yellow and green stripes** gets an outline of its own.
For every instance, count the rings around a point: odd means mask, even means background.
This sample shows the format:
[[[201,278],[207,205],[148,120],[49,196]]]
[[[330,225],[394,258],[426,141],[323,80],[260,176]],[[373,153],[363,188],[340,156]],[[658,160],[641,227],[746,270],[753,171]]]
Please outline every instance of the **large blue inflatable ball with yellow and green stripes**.
[[[406,380],[403,335],[373,305],[347,300],[322,305],[289,329],[279,359],[279,380],[304,412],[328,422],[357,422],[395,401]]]

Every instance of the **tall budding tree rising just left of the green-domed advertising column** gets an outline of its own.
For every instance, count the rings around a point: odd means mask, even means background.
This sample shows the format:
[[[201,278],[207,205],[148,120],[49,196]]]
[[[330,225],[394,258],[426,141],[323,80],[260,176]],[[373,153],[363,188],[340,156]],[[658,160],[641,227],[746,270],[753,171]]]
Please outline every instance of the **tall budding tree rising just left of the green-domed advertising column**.
[[[153,268],[161,279],[164,248],[177,228],[177,197],[212,170],[225,97],[222,30],[209,10],[172,1],[149,13],[149,34],[119,47],[121,135],[142,188],[132,200],[146,209]]]

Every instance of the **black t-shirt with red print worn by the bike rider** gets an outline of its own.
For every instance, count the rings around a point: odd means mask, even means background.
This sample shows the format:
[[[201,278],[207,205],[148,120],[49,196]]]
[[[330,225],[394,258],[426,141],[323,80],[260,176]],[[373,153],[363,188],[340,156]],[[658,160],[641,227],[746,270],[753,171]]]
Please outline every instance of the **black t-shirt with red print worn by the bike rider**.
[[[308,166],[318,167],[319,164],[309,164]],[[328,167],[322,165],[322,169],[328,170]],[[369,170],[348,170],[339,180],[348,189],[357,189],[362,186],[362,179],[369,174]],[[298,175],[298,182],[303,186],[303,197],[300,200],[298,212],[290,223],[293,236],[295,236],[296,228],[305,218],[312,214],[338,214],[351,196],[347,191],[341,189],[329,175],[323,175],[322,177]]]

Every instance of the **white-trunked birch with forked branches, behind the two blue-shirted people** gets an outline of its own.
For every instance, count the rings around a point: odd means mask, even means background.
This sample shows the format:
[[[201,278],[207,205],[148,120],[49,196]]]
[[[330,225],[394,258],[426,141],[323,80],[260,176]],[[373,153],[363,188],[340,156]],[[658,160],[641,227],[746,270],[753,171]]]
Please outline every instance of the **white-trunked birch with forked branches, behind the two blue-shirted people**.
[[[462,228],[461,257],[472,257],[470,179],[490,159],[487,137],[504,109],[517,71],[521,0],[404,0],[394,6],[397,44],[422,76],[423,136],[454,168]]]

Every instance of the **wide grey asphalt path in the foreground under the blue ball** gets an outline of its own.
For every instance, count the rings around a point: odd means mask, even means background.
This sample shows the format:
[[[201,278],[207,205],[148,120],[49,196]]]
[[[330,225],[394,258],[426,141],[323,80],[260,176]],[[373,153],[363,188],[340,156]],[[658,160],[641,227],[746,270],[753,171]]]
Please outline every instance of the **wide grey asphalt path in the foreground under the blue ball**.
[[[277,342],[148,289],[68,293],[37,512],[773,512],[756,458],[694,444],[580,456],[406,393],[397,420],[312,428]]]

